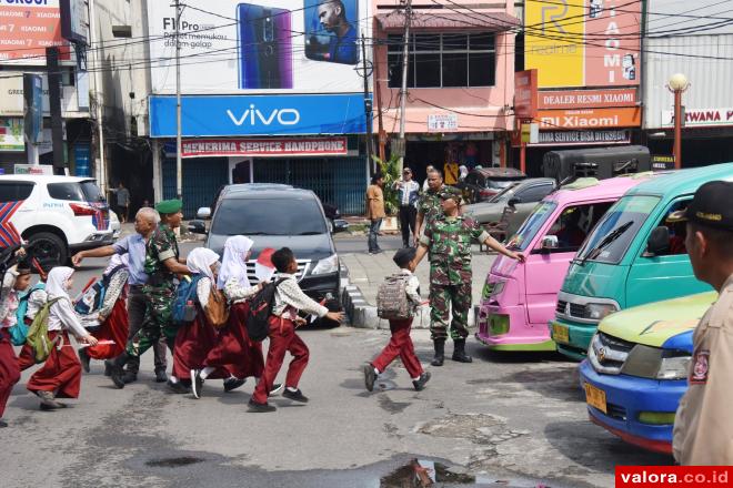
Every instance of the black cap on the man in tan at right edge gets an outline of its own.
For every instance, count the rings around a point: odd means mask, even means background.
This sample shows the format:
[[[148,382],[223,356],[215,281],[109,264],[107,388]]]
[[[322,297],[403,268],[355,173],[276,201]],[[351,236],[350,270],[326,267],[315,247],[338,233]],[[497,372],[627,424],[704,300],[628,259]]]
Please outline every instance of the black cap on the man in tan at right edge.
[[[687,209],[674,212],[669,220],[733,232],[733,182],[705,183],[697,189]]]

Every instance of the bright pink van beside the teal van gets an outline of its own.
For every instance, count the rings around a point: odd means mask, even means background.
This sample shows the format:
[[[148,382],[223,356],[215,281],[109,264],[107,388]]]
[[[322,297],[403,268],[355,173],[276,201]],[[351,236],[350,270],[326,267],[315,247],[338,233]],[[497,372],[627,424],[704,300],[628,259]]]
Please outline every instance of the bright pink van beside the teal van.
[[[508,242],[526,263],[499,256],[486,276],[476,338],[494,350],[555,350],[548,322],[570,261],[611,205],[652,177],[581,179],[545,196]]]

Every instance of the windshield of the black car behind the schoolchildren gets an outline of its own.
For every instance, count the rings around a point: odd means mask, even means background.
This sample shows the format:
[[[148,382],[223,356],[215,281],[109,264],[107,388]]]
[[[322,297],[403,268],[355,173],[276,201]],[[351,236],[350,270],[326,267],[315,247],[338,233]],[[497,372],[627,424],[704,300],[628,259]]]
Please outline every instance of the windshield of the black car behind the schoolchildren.
[[[219,235],[325,234],[325,221],[315,199],[224,199],[211,233]]]

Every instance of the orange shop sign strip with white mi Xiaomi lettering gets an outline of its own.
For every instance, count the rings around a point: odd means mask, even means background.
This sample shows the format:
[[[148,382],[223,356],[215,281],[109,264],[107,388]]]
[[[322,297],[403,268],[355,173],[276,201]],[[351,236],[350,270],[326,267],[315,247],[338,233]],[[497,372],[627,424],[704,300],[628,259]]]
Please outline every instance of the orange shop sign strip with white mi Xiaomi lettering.
[[[540,129],[632,128],[641,124],[640,108],[540,110]]]

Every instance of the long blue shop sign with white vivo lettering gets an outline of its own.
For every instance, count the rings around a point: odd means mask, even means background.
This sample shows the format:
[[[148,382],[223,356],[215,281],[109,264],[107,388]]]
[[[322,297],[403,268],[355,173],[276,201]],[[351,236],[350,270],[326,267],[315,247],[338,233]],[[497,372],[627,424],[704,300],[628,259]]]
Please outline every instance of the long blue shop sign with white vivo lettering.
[[[221,95],[181,99],[184,138],[359,134],[366,131],[361,93]],[[175,96],[150,98],[150,136],[175,136]]]

